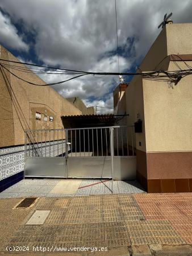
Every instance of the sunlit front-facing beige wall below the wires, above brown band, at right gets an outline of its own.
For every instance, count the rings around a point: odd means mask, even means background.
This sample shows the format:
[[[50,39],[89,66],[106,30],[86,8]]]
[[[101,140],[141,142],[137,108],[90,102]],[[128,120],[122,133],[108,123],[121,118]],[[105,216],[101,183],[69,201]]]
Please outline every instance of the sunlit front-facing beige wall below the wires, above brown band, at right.
[[[177,62],[182,69],[185,64]],[[192,65],[192,61],[187,61]],[[178,69],[170,61],[169,70]],[[147,152],[192,151],[191,76],[173,89],[167,82],[143,80]]]

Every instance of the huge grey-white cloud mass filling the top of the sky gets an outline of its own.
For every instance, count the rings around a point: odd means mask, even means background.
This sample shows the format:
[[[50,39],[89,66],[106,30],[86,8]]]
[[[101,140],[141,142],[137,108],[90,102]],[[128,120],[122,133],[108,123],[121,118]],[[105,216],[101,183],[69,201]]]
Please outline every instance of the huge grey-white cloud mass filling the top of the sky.
[[[146,53],[165,13],[174,22],[191,22],[189,0],[118,0],[119,46],[137,38],[136,56]],[[46,64],[90,69],[101,55],[116,49],[115,6],[111,0],[1,0],[12,20],[34,32],[35,50]],[[13,33],[14,34],[14,33]]]

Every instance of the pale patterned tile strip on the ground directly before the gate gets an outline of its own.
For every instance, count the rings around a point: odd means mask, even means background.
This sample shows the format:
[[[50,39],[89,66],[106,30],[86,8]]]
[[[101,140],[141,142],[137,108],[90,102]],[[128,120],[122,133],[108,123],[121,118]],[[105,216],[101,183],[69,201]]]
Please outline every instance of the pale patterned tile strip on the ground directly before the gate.
[[[24,179],[0,193],[0,198],[64,197],[111,194],[111,180]],[[113,193],[144,193],[137,181],[113,181]]]

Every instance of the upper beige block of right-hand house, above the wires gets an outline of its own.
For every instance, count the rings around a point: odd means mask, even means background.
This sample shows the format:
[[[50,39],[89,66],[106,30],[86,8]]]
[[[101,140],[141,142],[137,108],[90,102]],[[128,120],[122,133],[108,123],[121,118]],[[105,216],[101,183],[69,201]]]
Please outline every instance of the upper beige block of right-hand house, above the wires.
[[[172,54],[192,54],[192,23],[166,24],[149,48],[141,71],[168,70]]]

